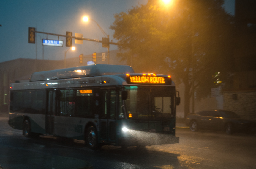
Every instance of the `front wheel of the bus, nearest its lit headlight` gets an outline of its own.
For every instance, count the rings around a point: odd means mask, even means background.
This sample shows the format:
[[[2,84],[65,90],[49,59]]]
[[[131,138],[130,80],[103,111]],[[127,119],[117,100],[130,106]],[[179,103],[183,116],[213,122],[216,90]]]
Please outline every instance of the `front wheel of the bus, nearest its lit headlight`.
[[[97,150],[101,147],[100,143],[98,143],[97,130],[95,127],[91,126],[87,129],[85,139],[89,148]]]

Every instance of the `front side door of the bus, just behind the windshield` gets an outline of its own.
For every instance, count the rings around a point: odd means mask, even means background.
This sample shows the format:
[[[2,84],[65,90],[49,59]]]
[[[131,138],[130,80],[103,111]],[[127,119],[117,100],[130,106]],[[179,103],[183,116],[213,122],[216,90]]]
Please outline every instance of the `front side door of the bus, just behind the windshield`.
[[[100,117],[100,141],[116,142],[116,90],[104,89],[101,92],[102,112]]]

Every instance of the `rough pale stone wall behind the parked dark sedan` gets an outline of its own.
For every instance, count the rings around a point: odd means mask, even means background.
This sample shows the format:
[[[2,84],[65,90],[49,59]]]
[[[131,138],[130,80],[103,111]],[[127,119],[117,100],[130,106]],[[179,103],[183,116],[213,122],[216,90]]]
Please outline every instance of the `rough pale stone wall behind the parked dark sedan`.
[[[223,92],[223,109],[237,113],[241,118],[256,120],[256,91]]]

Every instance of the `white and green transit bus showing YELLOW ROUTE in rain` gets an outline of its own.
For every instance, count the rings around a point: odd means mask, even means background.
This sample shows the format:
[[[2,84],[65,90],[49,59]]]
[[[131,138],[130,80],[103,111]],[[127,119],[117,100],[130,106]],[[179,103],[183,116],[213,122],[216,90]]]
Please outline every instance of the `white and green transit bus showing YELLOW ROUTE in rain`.
[[[176,92],[170,76],[124,65],[34,72],[10,84],[8,123],[25,137],[85,140],[91,149],[178,143]]]

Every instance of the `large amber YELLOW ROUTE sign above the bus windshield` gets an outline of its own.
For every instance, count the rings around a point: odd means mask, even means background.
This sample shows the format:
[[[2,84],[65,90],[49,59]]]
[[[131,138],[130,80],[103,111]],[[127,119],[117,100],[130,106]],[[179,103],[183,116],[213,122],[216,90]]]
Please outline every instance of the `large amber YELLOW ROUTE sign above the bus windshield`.
[[[157,76],[129,76],[127,83],[137,84],[171,84],[171,78]]]

